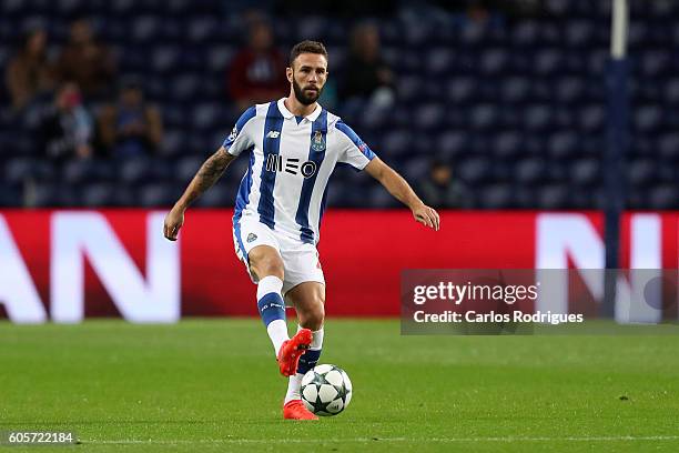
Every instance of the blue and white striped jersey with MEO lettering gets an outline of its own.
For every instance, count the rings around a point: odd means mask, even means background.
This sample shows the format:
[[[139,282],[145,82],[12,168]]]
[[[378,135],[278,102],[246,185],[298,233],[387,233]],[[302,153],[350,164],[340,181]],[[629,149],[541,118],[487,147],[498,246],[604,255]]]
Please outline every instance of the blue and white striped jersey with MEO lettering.
[[[234,225],[256,219],[275,231],[317,243],[327,181],[337,163],[363,170],[375,153],[340,117],[321,105],[297,118],[283,99],[251,107],[224,141],[250,153],[236,197]]]

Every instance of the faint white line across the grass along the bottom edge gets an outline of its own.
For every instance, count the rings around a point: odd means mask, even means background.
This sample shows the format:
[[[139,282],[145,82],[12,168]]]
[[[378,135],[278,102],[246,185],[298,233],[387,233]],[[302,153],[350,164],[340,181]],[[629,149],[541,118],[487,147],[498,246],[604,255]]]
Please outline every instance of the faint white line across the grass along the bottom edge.
[[[354,439],[320,439],[314,442],[341,443],[341,442],[625,442],[625,441],[679,441],[679,435],[646,435],[646,436],[592,436],[592,437],[432,437],[432,439],[408,439],[408,437],[354,437]],[[133,444],[159,444],[159,445],[180,445],[180,444],[268,444],[268,443],[308,443],[308,439],[197,439],[197,440],[82,440],[83,444],[112,444],[112,445],[133,445]]]

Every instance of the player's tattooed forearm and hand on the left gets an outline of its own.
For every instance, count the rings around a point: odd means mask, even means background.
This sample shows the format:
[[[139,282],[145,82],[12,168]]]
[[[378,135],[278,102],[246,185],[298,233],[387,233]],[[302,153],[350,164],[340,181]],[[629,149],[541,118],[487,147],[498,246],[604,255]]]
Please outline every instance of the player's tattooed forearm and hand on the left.
[[[184,224],[184,211],[207,189],[224,174],[226,167],[235,159],[235,155],[226,152],[224,147],[220,148],[214,154],[201,165],[193,180],[184,191],[184,194],[174,203],[172,210],[165,217],[163,234],[171,241],[176,241],[176,234]]]

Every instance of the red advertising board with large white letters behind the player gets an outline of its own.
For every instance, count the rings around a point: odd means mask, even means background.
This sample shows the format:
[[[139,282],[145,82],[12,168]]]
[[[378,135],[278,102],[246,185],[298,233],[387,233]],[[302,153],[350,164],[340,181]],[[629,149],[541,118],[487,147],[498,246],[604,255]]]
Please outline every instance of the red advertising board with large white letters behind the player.
[[[164,212],[0,211],[0,318],[256,315],[233,251],[230,210],[191,210],[180,240]],[[628,212],[621,268],[677,269],[679,212]],[[434,232],[407,211],[331,210],[320,254],[330,316],[396,316],[404,269],[601,269],[599,212],[442,212]]]

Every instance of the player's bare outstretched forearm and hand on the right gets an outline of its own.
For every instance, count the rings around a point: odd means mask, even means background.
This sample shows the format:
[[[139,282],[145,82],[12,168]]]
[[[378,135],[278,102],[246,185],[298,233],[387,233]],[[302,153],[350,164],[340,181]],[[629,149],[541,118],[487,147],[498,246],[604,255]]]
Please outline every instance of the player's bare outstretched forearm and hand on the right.
[[[365,171],[379,181],[396,200],[408,207],[417,222],[438,231],[440,226],[438,212],[434,208],[427,207],[417,197],[411,184],[394,169],[384,163],[379,158],[374,158],[365,167]]]

